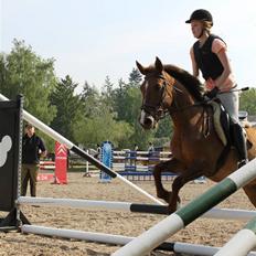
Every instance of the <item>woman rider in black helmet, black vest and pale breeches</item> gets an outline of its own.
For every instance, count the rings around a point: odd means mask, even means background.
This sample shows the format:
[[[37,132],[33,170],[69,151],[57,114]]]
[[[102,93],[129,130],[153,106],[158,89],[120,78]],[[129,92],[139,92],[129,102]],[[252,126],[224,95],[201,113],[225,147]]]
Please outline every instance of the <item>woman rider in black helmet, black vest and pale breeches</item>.
[[[227,57],[226,43],[211,33],[213,18],[204,9],[195,10],[185,23],[191,24],[192,33],[198,39],[190,51],[193,75],[198,77],[201,71],[205,79],[205,95],[209,98],[218,98],[228,113],[232,122],[231,132],[239,157],[238,168],[241,168],[248,162],[247,147],[238,119],[238,93],[231,90],[236,87],[236,83]]]

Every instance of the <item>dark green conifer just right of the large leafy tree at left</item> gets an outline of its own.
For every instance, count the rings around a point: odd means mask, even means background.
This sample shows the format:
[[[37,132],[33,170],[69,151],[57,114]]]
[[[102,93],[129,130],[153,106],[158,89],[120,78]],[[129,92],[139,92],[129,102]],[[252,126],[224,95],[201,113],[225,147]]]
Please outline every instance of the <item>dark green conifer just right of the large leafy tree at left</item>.
[[[51,103],[57,109],[57,115],[52,121],[52,128],[64,137],[74,141],[74,130],[82,115],[79,96],[75,95],[75,84],[71,76],[66,76],[57,83],[51,95]]]

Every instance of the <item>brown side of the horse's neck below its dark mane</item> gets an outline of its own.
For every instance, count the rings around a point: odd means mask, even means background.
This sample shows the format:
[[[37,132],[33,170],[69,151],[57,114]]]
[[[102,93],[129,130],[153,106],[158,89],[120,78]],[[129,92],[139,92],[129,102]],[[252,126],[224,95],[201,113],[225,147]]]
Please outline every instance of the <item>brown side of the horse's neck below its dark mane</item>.
[[[169,109],[170,116],[175,127],[179,129],[186,129],[188,126],[193,126],[199,113],[202,113],[200,106],[192,107],[195,99],[190,95],[184,86],[181,84],[175,85],[177,89],[173,90],[173,102]]]

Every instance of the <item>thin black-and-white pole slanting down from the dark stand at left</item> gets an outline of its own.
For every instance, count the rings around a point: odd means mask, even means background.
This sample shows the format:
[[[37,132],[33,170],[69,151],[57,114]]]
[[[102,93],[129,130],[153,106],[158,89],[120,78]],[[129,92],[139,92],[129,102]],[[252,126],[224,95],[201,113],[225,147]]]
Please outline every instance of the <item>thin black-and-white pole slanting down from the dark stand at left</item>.
[[[0,100],[6,102],[6,100],[9,100],[9,98],[7,98],[2,94],[0,94]],[[32,116],[31,114],[29,114],[24,109],[23,109],[22,114],[23,114],[23,119],[24,120],[29,121],[30,124],[32,124],[33,126],[39,128],[41,131],[43,131],[44,134],[46,134],[47,136],[50,136],[54,140],[58,141],[60,143],[65,145],[71,151],[73,151],[74,153],[76,153],[79,157],[84,158],[85,160],[87,160],[88,162],[90,162],[92,164],[97,167],[99,170],[103,170],[105,173],[107,173],[111,178],[118,178],[119,180],[121,180],[122,182],[125,182],[126,184],[131,186],[132,189],[137,190],[139,193],[146,195],[151,201],[153,201],[153,202],[156,202],[156,203],[158,203],[160,205],[164,205],[164,203],[162,203],[158,199],[153,198],[151,194],[147,193],[146,191],[143,191],[142,189],[140,189],[139,186],[137,186],[132,182],[128,181],[127,179],[125,179],[124,177],[118,174],[117,172],[113,171],[110,168],[103,164],[96,158],[89,156],[86,151],[78,148],[76,145],[74,145],[73,142],[67,140],[65,137],[63,137],[62,135],[60,135],[58,132],[53,130],[51,127],[46,126],[44,122],[42,122],[41,120],[39,120],[34,116]]]

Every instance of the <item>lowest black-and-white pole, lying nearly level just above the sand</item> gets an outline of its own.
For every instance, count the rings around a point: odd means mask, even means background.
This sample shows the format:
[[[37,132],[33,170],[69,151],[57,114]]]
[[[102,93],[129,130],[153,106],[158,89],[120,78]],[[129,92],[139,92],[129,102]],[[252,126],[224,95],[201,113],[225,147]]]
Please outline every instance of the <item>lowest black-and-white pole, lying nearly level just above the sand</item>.
[[[35,234],[35,235],[47,235],[47,236],[57,236],[63,238],[73,238],[73,239],[82,239],[88,242],[111,244],[111,245],[126,245],[131,242],[135,237],[122,236],[122,235],[110,235],[104,233],[94,233],[94,232],[84,232],[84,231],[73,231],[65,228],[53,228],[46,226],[38,226],[38,225],[23,225],[21,227],[23,233]],[[175,252],[182,254],[191,254],[191,255],[201,255],[201,256],[212,256],[220,248],[204,245],[194,245],[188,243],[163,243],[157,249]],[[256,256],[255,252],[248,254],[248,256]]]

